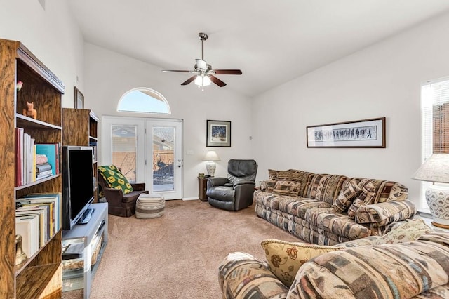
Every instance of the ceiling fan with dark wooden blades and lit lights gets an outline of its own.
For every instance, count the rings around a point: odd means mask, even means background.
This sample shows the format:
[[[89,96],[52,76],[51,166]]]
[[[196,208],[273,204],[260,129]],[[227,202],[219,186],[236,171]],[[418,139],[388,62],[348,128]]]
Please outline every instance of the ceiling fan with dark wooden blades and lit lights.
[[[196,85],[208,86],[210,82],[217,84],[217,86],[226,86],[226,83],[215,77],[215,74],[241,74],[240,69],[212,69],[212,66],[204,60],[204,41],[208,39],[206,33],[200,32],[198,34],[201,40],[201,59],[196,59],[194,70],[176,70],[176,69],[164,69],[162,72],[182,72],[194,74],[192,77],[182,82],[181,85],[187,85],[194,81]]]

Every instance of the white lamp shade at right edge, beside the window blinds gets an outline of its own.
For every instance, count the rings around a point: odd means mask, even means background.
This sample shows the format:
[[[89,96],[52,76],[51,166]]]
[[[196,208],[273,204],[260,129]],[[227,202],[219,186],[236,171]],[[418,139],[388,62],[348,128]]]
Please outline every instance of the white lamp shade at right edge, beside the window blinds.
[[[449,154],[432,154],[416,171],[413,179],[449,182]]]

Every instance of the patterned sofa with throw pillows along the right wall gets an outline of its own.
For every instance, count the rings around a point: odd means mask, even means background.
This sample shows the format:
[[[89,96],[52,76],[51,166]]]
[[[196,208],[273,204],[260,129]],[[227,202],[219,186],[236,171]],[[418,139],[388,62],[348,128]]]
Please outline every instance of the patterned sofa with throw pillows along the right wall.
[[[382,235],[390,223],[416,214],[407,196],[398,182],[295,169],[270,169],[254,194],[259,217],[320,245]]]

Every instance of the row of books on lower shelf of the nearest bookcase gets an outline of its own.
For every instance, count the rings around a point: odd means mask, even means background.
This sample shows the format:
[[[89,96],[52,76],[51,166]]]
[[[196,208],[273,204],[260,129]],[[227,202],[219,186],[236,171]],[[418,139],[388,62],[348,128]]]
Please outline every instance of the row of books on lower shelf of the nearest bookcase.
[[[28,258],[60,230],[61,200],[60,193],[32,193],[15,201],[15,234]]]

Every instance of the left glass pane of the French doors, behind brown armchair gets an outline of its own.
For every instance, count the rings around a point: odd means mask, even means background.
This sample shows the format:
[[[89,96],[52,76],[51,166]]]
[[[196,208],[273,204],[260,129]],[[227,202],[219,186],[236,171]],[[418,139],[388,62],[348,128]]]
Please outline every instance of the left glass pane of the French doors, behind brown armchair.
[[[135,182],[135,152],[137,151],[135,126],[112,126],[112,164],[130,182]]]

